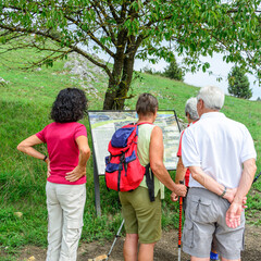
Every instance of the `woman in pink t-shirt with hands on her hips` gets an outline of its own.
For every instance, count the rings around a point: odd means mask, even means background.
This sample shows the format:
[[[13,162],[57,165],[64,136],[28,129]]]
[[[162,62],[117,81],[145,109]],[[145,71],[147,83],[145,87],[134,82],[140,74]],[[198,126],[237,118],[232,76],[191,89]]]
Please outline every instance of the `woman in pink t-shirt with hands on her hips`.
[[[59,92],[51,111],[54,121],[26,138],[20,151],[47,163],[48,261],[74,261],[83,228],[86,198],[86,163],[90,157],[84,117],[87,99],[83,90]],[[34,146],[47,144],[48,156]]]

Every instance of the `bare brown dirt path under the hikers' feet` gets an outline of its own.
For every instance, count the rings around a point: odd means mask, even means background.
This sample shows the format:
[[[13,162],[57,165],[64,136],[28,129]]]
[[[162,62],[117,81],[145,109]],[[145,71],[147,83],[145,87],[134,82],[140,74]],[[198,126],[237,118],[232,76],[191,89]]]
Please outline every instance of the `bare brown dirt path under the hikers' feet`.
[[[78,250],[78,261],[88,261],[101,254],[107,254],[111,248],[112,241],[83,243]],[[110,261],[123,260],[124,238],[120,237],[113,248]],[[34,258],[35,259],[34,259]],[[34,246],[26,247],[17,261],[45,261],[46,249]],[[162,239],[156,245],[154,261],[175,261],[177,260],[177,231],[164,232]],[[189,260],[189,257],[182,252],[182,261]],[[243,261],[261,260],[261,226],[246,226],[245,251],[241,254]]]

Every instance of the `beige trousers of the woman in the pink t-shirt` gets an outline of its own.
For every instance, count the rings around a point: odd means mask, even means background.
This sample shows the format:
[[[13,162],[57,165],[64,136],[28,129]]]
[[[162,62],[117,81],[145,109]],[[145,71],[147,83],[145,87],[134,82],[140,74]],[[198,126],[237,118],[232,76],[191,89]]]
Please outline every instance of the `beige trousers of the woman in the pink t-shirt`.
[[[47,182],[47,261],[75,261],[83,228],[86,185]]]

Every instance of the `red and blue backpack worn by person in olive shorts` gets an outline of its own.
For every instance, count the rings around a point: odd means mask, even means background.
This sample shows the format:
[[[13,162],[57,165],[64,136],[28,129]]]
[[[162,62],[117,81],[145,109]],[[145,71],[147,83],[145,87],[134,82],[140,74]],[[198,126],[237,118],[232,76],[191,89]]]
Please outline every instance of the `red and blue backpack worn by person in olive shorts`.
[[[138,126],[145,123],[127,124],[113,134],[108,146],[110,156],[105,157],[105,184],[116,191],[132,191],[146,175],[150,200],[154,201],[153,173],[149,164],[140,164],[137,156]]]

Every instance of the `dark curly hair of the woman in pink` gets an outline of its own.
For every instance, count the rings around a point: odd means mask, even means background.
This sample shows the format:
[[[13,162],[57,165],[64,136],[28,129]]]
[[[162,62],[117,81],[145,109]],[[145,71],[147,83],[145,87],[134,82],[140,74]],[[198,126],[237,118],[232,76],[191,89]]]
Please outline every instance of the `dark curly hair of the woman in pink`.
[[[59,92],[52,104],[51,119],[54,122],[77,122],[87,111],[85,92],[77,88],[66,88]]]

